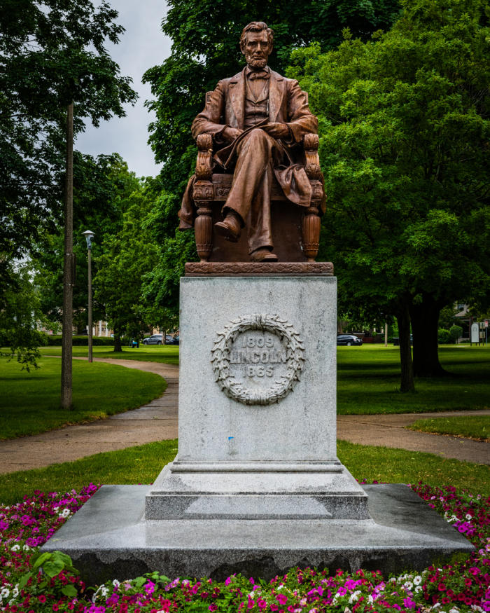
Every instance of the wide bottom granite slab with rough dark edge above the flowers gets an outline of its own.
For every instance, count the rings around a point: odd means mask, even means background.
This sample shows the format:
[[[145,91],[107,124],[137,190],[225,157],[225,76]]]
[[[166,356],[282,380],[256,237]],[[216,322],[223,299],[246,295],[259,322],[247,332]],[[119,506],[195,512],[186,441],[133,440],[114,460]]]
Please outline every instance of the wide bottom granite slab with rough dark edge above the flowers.
[[[42,551],[68,553],[89,585],[160,570],[270,579],[290,567],[402,572],[473,546],[406,485],[365,485],[372,519],[145,520],[146,485],[104,485]]]

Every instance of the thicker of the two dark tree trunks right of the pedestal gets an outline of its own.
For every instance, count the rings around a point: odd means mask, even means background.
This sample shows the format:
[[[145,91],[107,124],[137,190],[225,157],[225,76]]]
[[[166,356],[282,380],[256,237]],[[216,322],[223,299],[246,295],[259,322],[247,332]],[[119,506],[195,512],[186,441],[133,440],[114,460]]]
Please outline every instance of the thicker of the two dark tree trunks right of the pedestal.
[[[410,305],[412,333],[414,336],[414,375],[416,377],[436,377],[446,375],[439,361],[440,304],[425,294],[422,302]]]

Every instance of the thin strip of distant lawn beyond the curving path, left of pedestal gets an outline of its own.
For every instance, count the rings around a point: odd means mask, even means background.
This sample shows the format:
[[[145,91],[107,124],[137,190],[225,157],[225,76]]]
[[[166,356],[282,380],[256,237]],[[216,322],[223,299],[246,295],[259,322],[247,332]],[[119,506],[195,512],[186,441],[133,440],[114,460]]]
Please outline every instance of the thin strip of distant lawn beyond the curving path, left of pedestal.
[[[139,361],[158,361],[162,364],[179,366],[179,345],[139,345],[139,349],[123,347],[122,352],[114,352],[113,347],[92,347],[94,357],[116,359],[137,359]],[[61,355],[61,347],[40,347],[43,355]],[[87,357],[88,347],[73,347],[73,357]]]

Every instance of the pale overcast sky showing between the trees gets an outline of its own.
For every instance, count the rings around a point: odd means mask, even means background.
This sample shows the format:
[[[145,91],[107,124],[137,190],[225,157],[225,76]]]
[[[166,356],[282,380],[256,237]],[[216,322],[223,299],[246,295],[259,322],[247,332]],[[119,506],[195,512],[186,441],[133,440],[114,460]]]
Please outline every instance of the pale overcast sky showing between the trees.
[[[97,6],[97,1],[94,2]],[[126,117],[102,121],[99,128],[89,122],[83,134],[76,139],[75,147],[93,156],[99,153],[120,153],[130,170],[138,177],[154,177],[160,171],[155,165],[153,151],[147,144],[148,123],[153,117],[145,108],[151,99],[150,85],[141,83],[148,68],[161,64],[170,55],[170,39],[162,33],[161,22],[165,16],[164,0],[110,0],[119,11],[116,20],[126,32],[118,45],[109,43],[107,49],[118,62],[123,76],[133,79],[132,87],[139,93],[135,106],[126,107]]]

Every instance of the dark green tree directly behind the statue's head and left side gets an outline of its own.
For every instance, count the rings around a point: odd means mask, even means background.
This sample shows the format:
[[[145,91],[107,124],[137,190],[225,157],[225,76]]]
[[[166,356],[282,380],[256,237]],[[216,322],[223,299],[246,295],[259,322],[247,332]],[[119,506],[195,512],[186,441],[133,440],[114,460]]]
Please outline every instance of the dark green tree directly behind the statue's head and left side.
[[[165,198],[160,203],[162,219],[160,262],[148,284],[148,296],[167,309],[165,321],[178,315],[179,277],[186,261],[197,258],[192,233],[176,235],[177,211],[188,177],[194,172],[197,149],[190,135],[193,118],[204,107],[204,95],[221,78],[243,68],[239,48],[241,30],[251,21],[262,20],[274,29],[272,69],[283,72],[292,49],[318,41],[323,50],[336,46],[342,28],[366,40],[377,29],[387,29],[397,17],[398,0],[258,0],[211,2],[170,0],[162,22],[172,39],[172,54],[160,66],[149,69],[144,79],[151,83],[155,111],[150,142],[158,162],[164,163]]]

